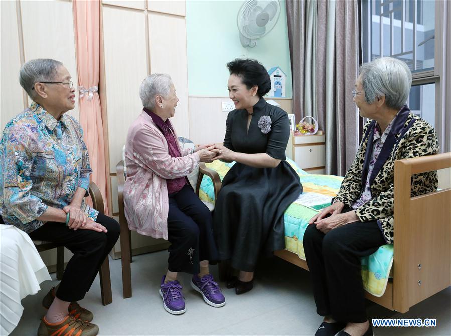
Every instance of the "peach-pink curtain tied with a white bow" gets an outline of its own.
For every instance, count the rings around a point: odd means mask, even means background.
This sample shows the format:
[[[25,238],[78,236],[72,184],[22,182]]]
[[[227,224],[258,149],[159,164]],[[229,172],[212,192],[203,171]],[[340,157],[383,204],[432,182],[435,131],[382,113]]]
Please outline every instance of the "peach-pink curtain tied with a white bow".
[[[103,123],[97,93],[100,73],[100,1],[74,0],[73,11],[80,124],[89,151],[91,180],[99,187],[105,214],[108,214]]]

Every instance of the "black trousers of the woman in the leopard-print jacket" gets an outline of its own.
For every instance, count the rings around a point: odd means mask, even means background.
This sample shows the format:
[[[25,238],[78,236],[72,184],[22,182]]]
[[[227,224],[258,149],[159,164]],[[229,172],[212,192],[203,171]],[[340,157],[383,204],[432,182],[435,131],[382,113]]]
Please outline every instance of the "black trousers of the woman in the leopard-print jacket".
[[[343,212],[351,211],[345,208]],[[360,258],[385,245],[376,221],[355,222],[324,234],[315,224],[304,233],[317,313],[344,323],[363,323],[366,315]]]

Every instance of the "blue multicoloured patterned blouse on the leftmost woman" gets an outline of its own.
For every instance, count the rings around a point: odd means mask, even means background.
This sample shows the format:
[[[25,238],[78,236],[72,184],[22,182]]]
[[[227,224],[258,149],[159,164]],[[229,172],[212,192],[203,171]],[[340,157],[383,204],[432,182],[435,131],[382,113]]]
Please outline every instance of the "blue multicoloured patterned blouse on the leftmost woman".
[[[56,120],[38,103],[13,118],[0,141],[0,216],[29,233],[47,207],[69,205],[78,187],[88,190],[88,150],[77,120]],[[82,202],[88,217],[98,212]],[[62,224],[64,225],[64,224]]]

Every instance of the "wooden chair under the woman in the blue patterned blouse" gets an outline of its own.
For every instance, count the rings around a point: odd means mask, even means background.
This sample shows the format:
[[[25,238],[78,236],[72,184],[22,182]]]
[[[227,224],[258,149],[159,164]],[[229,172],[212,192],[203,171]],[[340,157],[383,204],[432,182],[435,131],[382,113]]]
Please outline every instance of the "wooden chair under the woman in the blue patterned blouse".
[[[94,182],[89,184],[89,196],[92,199],[92,205],[94,209],[96,209],[100,213],[104,213],[103,208],[103,198],[100,193],[99,188]],[[38,242],[33,241],[35,243],[36,249],[38,252],[47,251],[52,248],[57,249],[56,254],[56,278],[61,280],[63,278],[64,272],[64,246],[61,246],[57,243],[52,242]],[[102,303],[103,305],[110,304],[113,301],[113,296],[111,293],[111,278],[110,278],[110,268],[109,268],[109,260],[108,256],[105,258],[102,266],[100,267],[100,292],[102,294]]]

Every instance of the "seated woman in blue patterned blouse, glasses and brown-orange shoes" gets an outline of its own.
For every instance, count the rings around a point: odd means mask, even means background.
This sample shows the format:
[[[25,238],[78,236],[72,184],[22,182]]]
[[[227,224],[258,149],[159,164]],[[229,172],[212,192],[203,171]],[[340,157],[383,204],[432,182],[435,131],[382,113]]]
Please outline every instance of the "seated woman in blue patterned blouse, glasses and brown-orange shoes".
[[[117,241],[119,225],[84,203],[92,170],[83,131],[65,114],[75,107],[67,69],[52,59],[31,60],[19,80],[33,102],[5,126],[0,141],[0,222],[74,253],[58,288],[43,300],[49,310],[38,336],[66,329],[95,336],[92,313],[77,301]]]

